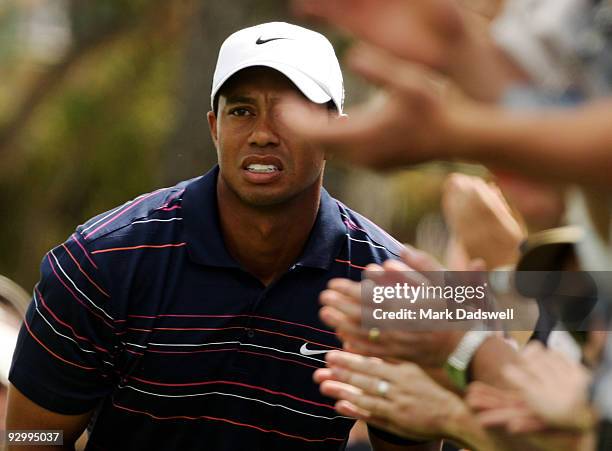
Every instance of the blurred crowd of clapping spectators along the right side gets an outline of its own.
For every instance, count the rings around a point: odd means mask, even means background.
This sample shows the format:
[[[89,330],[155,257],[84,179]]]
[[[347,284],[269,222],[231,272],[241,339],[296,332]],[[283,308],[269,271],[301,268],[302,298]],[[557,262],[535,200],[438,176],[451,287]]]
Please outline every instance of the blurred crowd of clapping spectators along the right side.
[[[288,126],[377,170],[431,160],[490,170],[487,180],[449,176],[443,239],[423,233],[403,261],[368,270],[398,281],[445,269],[596,274],[573,301],[597,305],[582,332],[572,314],[542,302],[523,338],[365,330],[360,284],[332,281],[321,318],[348,352],[327,355],[315,373],[321,391],[341,414],[412,439],[472,450],[612,449],[612,2],[293,6],[356,38],[348,64],[380,94],[334,123],[317,122],[296,100]],[[424,250],[436,241],[442,263]],[[460,351],[469,356],[463,379],[447,371]]]

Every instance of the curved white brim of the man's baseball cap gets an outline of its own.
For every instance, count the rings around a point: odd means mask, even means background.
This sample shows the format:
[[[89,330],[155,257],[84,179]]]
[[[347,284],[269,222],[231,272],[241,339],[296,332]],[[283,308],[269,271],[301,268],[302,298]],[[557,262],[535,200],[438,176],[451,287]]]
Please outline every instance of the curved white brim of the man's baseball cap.
[[[323,89],[312,78],[292,66],[282,64],[276,61],[265,60],[246,61],[244,64],[237,66],[231,72],[229,72],[223,79],[219,81],[219,83],[217,83],[217,86],[214,87],[211,93],[211,105],[214,106],[214,98],[217,95],[217,92],[219,92],[221,86],[223,86],[227,82],[227,80],[229,80],[233,75],[243,69],[258,66],[269,67],[270,69],[274,69],[282,73],[289,80],[291,80],[291,82],[300,90],[300,92],[302,92],[302,94],[304,94],[306,98],[311,102],[322,104],[327,103],[329,101],[334,101],[334,104],[338,108],[338,111],[340,111],[341,107],[338,105],[338,103],[327,93],[325,89]]]

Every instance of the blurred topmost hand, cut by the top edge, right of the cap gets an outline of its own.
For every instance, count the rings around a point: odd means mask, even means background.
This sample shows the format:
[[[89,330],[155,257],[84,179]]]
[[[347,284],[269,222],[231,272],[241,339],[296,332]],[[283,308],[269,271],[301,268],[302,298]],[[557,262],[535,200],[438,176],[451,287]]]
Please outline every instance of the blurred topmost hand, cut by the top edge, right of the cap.
[[[324,20],[405,61],[450,77],[478,100],[496,100],[522,71],[456,0],[294,0],[298,14]],[[465,2],[464,2],[465,3]]]

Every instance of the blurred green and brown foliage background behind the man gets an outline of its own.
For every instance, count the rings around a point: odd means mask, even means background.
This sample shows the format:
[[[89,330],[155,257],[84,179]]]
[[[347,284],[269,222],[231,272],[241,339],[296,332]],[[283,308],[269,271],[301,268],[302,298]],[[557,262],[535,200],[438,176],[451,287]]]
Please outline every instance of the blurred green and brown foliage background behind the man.
[[[0,0],[0,274],[29,291],[44,253],[78,224],[206,172],[216,161],[205,114],[218,48],[272,20],[300,23],[286,0]],[[346,37],[308,26],[342,57]],[[371,95],[345,78],[349,108]],[[436,212],[451,169],[380,175],[331,162],[326,186],[402,241],[414,242],[425,217],[421,241],[439,254]]]

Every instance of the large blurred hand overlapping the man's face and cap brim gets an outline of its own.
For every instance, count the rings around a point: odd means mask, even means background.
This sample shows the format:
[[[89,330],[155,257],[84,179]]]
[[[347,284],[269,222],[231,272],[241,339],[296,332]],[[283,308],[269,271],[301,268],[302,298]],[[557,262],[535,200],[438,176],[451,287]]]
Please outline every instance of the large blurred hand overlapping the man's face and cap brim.
[[[349,117],[329,121],[314,115],[297,98],[282,111],[285,125],[304,141],[322,146],[350,163],[389,169],[449,156],[457,145],[450,130],[451,116],[465,118],[463,109],[443,104],[442,84],[422,67],[380,50],[360,46],[350,65],[386,88],[352,111]]]

